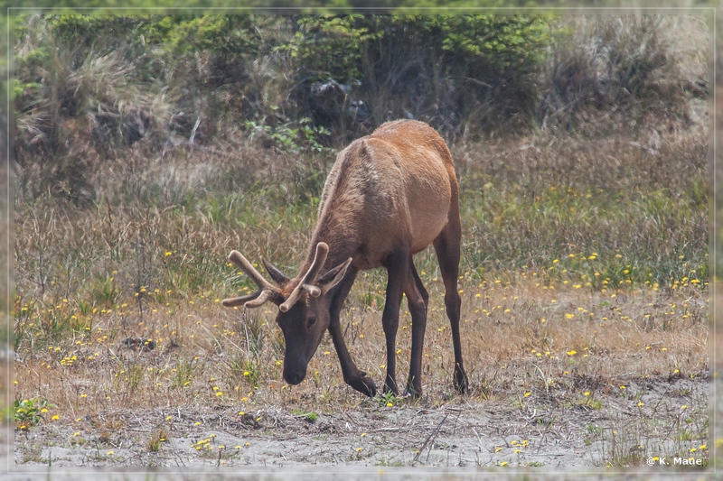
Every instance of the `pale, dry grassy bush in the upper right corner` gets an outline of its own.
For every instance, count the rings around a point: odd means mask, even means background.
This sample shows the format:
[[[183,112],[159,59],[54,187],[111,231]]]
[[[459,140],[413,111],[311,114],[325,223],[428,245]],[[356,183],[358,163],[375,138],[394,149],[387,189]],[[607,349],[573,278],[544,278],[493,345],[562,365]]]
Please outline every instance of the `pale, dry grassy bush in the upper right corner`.
[[[708,97],[700,42],[708,27],[701,19],[627,15],[560,22],[538,111],[542,128],[596,134],[611,127],[636,130],[653,118],[690,125],[690,98]],[[606,116],[612,118],[600,122]]]

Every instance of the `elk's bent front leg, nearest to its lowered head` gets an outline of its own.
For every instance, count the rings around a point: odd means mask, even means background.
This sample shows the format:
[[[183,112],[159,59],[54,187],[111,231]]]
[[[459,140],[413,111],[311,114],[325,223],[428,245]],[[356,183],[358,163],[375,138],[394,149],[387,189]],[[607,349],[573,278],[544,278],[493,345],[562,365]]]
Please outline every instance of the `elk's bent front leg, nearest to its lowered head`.
[[[344,342],[340,320],[343,303],[352,289],[356,274],[357,270],[350,267],[343,281],[336,287],[337,292],[334,294],[329,306],[329,334],[332,335],[333,347],[336,349],[336,355],[339,356],[339,364],[342,365],[344,383],[349,384],[362,394],[374,397],[377,395],[377,386],[352,361],[352,356],[350,356],[349,349],[347,349]]]

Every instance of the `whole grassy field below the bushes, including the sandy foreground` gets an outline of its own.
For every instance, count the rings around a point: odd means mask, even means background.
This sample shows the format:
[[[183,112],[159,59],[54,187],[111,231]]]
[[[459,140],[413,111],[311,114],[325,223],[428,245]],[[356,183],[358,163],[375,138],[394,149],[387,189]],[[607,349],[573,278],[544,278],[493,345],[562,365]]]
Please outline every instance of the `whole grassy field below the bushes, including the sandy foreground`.
[[[208,438],[209,420],[213,429],[225,420],[250,430],[260,442],[277,435],[278,420],[303,435],[324,426],[317,418],[342,422],[342,412],[399,427],[420,410],[478,413],[484,406],[505,413],[510,425],[535,419],[538,409],[554,412],[535,421],[538,432],[575,439],[568,451],[583,453],[578,461],[587,466],[637,466],[666,454],[707,463],[705,129],[676,131],[654,149],[622,134],[540,134],[451,148],[461,185],[459,289],[472,392],[454,394],[444,288],[434,254],[425,251],[416,258],[430,292],[424,395],[416,404],[352,391],[328,337],[305,382],[288,386],[271,307],[221,307],[220,299],[255,289],[227,263],[232,248],[296,273],[333,162],[328,154],[292,156],[254,143],[235,152],[181,149],[150,162],[130,152],[99,169],[93,181],[101,200],[90,206],[23,198],[21,186],[16,463],[48,463],[47,449],[62,447],[92,449],[91,464],[148,466],[167,459],[170,441],[185,439],[174,452],[201,464],[254,464],[258,453],[244,451],[253,445],[230,449]],[[362,273],[343,311],[352,356],[377,384],[385,367],[385,282],[383,272]],[[406,303],[402,309],[401,382],[410,348]],[[153,344],[129,347],[128,338]],[[567,423],[567,434],[552,427],[554,419]],[[510,439],[506,447],[490,440],[489,458],[476,462],[549,465],[521,459],[531,447]],[[374,457],[371,447],[353,445],[348,458],[330,462],[418,465],[413,447],[423,451],[423,440],[409,442],[406,458]],[[428,464],[440,459],[427,455]]]

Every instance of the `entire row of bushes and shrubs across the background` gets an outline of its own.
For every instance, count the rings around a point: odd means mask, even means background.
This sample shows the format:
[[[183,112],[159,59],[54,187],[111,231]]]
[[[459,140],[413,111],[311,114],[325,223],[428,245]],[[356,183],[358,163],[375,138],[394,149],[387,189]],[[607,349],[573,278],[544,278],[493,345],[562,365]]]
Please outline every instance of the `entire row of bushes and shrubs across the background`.
[[[103,162],[275,149],[315,179],[299,154],[325,165],[390,119],[450,142],[675,129],[708,95],[695,17],[25,15],[15,32],[16,193],[81,204]]]

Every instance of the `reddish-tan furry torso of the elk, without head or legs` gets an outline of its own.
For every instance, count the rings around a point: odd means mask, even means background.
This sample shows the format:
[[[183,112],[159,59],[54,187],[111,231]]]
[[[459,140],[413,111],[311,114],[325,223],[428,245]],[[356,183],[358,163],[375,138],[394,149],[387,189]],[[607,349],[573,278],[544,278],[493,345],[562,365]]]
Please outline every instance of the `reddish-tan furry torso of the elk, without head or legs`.
[[[452,155],[431,127],[381,125],[339,153],[324,185],[312,246],[330,245],[329,267],[346,257],[373,269],[400,243],[417,254],[446,226],[457,193]]]

